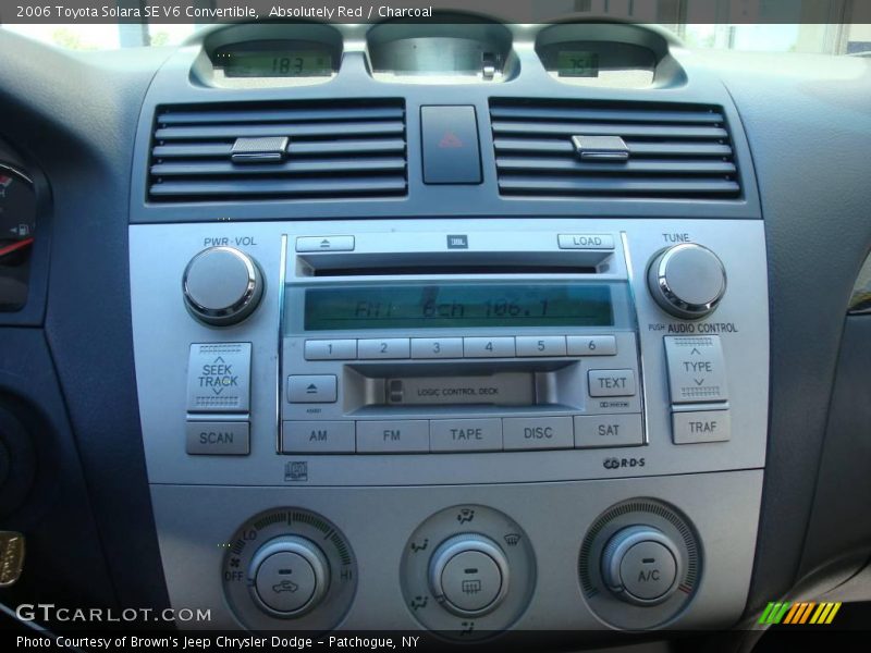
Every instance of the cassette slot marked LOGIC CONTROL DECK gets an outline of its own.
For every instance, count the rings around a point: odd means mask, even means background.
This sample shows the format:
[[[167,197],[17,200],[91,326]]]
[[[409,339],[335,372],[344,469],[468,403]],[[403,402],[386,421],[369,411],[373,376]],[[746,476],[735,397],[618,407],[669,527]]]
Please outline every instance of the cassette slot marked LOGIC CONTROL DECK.
[[[345,412],[572,410],[577,406],[557,401],[557,384],[577,365],[577,360],[349,365],[344,370]]]

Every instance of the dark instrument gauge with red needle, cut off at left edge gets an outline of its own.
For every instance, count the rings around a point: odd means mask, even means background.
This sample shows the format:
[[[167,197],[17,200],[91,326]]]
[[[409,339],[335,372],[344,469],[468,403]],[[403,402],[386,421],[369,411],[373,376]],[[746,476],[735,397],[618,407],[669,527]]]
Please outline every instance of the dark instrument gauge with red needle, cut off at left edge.
[[[36,232],[36,194],[21,171],[0,163],[0,311],[27,300],[30,251]]]

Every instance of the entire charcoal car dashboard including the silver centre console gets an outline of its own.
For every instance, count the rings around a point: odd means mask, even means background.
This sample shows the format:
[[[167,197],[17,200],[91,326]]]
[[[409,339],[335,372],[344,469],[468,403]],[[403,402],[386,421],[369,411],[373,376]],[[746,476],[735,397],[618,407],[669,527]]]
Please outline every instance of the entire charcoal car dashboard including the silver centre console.
[[[869,594],[867,59],[481,16],[0,53],[19,602],[582,646]]]

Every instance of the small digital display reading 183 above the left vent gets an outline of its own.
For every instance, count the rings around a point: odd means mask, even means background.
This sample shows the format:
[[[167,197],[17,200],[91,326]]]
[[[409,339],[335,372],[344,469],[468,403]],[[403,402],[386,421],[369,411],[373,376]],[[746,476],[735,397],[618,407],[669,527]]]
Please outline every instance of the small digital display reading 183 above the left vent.
[[[219,63],[228,77],[315,77],[333,71],[330,53],[319,50],[231,51]]]

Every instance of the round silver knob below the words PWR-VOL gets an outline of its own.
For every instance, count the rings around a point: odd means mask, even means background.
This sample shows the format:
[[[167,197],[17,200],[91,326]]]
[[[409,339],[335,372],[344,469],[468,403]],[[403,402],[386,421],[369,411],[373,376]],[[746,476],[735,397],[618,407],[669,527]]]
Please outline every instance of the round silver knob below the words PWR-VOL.
[[[247,318],[263,295],[257,263],[234,247],[209,247],[197,254],[182,279],[187,310],[201,322],[228,326]]]

